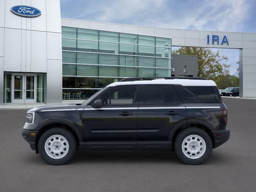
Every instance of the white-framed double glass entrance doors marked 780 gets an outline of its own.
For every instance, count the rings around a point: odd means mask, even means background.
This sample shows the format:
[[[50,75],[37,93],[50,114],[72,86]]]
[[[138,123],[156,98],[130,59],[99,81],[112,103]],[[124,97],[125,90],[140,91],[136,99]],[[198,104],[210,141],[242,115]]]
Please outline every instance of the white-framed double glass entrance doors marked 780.
[[[36,103],[36,75],[12,74],[12,103]]]

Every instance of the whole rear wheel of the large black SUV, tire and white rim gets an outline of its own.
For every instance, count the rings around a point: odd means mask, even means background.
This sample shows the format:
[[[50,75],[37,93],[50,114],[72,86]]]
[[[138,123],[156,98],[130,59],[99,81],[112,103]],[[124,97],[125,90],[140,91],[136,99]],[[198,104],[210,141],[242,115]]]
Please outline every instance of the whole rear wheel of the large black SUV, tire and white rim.
[[[186,148],[186,146],[192,149]],[[200,148],[198,148],[199,146]],[[212,139],[208,133],[202,129],[195,127],[186,128],[177,135],[174,141],[174,150],[183,163],[189,165],[202,164],[212,153]]]

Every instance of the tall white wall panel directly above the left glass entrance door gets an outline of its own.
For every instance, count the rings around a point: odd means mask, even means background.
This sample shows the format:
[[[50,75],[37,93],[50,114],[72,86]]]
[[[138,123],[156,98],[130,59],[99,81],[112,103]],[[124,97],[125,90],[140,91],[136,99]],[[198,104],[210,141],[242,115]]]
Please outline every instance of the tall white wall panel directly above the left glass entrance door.
[[[21,29],[4,28],[4,71],[21,71]]]

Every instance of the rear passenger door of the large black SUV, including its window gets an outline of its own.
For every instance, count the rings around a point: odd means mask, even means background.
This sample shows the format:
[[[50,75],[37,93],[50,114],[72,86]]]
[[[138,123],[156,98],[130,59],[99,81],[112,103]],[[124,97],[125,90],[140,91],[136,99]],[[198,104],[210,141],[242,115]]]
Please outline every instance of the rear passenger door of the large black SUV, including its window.
[[[186,108],[172,85],[142,85],[137,120],[138,148],[163,148],[165,144],[171,147],[167,142],[169,134],[182,121],[187,122]]]

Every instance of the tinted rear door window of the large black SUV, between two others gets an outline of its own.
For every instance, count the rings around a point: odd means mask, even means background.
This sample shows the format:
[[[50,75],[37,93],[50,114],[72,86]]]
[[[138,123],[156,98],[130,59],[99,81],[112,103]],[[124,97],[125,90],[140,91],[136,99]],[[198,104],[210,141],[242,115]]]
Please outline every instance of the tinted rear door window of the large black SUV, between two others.
[[[179,105],[181,100],[172,85],[143,85],[140,105]]]

